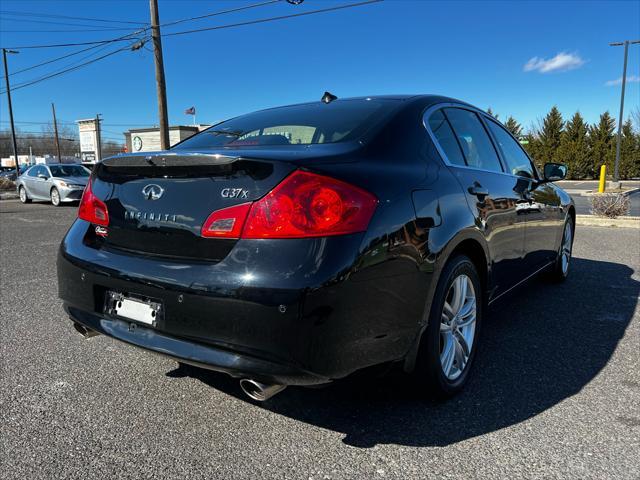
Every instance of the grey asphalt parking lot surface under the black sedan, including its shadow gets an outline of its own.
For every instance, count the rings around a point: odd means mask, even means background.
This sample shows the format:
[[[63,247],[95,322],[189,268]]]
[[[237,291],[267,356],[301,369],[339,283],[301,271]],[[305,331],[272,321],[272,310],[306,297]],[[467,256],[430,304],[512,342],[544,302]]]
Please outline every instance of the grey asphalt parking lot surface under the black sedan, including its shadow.
[[[578,227],[569,280],[493,309],[453,400],[395,374],[255,405],[71,328],[55,257],[75,213],[0,202],[0,478],[640,478],[640,229]]]

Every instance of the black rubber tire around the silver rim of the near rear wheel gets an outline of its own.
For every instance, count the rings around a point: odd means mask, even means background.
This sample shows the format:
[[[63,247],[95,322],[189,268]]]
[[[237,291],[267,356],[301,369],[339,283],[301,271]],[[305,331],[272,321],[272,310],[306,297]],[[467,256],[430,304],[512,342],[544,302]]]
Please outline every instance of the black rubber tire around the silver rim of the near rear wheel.
[[[451,288],[455,279],[461,275],[466,275],[470,280],[476,302],[475,302],[475,330],[471,342],[471,348],[461,372],[455,379],[450,379],[445,375],[443,365],[440,360],[441,349],[444,347],[444,335],[441,334],[441,319],[445,301],[448,301]],[[445,265],[436,291],[434,294],[431,310],[429,313],[429,323],[422,335],[414,378],[421,393],[430,398],[446,399],[460,392],[469,378],[469,372],[473,367],[478,338],[481,330],[484,314],[484,290],[480,282],[478,270],[465,255],[459,255]],[[454,335],[456,336],[456,335]],[[459,338],[456,336],[456,338]],[[455,361],[454,361],[455,365]]]

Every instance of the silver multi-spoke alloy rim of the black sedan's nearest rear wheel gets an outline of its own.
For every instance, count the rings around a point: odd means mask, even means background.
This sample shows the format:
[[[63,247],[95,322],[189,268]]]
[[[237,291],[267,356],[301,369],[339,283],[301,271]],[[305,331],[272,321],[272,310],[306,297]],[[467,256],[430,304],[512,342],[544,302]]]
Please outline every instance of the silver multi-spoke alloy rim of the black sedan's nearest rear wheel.
[[[458,275],[440,317],[440,364],[449,380],[458,378],[469,361],[476,333],[476,302],[473,282],[465,274]]]

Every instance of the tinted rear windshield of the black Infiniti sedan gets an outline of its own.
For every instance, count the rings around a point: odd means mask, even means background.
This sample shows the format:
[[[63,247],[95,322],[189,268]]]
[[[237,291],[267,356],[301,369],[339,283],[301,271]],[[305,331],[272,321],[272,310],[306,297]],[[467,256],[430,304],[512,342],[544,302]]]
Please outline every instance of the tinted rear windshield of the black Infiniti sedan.
[[[262,110],[214,125],[174,149],[348,142],[381,123],[398,103],[382,99],[336,100]]]

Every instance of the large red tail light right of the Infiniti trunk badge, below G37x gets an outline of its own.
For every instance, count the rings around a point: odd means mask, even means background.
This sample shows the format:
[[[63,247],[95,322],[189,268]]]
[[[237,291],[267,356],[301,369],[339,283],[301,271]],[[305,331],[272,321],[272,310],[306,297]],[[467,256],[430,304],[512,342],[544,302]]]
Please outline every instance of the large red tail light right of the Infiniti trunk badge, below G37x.
[[[213,212],[202,236],[306,238],[362,232],[377,204],[375,196],[358,187],[298,170],[254,203]]]

